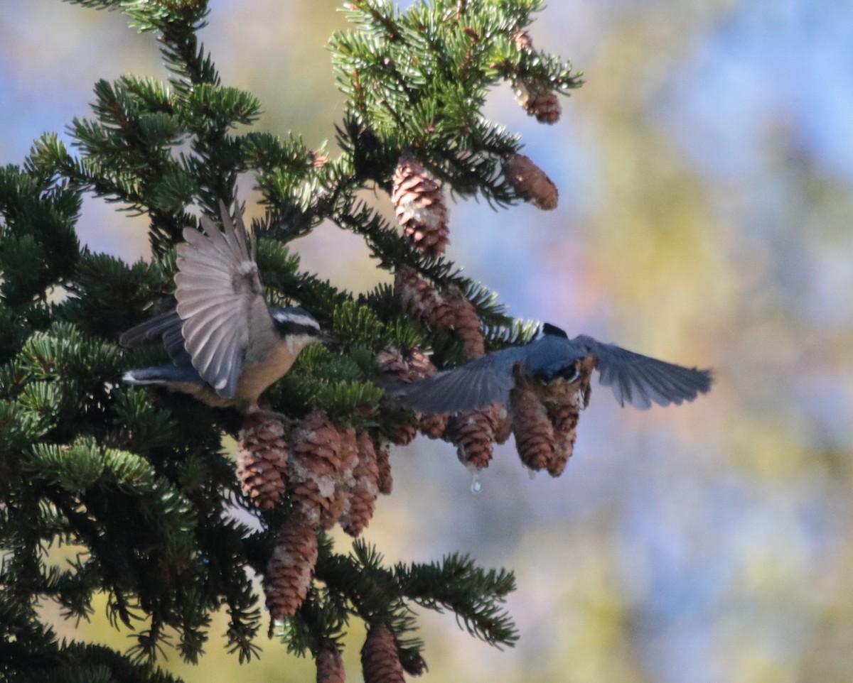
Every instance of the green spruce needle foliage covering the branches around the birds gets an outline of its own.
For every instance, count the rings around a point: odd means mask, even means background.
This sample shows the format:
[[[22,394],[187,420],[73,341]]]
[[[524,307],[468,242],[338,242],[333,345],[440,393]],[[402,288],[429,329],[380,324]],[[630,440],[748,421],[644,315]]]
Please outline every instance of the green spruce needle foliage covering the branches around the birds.
[[[0,169],[0,678],[16,681],[171,681],[155,666],[173,646],[190,662],[206,647],[211,615],[229,615],[230,651],[257,654],[262,627],[247,569],[263,573],[287,506],[259,513],[241,491],[223,451],[238,416],[181,395],[142,391],[123,372],[165,361],[161,349],[122,349],[119,334],[173,303],[175,244],[235,200],[237,176],[251,172],[265,215],[252,226],[258,263],[274,303],[308,308],[339,340],[306,350],[268,393],[294,418],[315,406],[341,427],[387,428],[375,380],[381,349],[432,347],[441,365],[463,359],[461,345],[403,314],[392,289],[340,291],[305,273],[287,243],[322,221],[361,236],[377,266],[415,268],[472,301],[494,349],[528,340],[530,324],[509,318],[495,296],[442,256],[425,256],[373,208],[365,187],[389,191],[403,150],[414,150],[444,187],[491,204],[519,201],[502,160],[519,140],[481,113],[489,89],[517,78],[555,91],[580,85],[566,63],[520,50],[513,35],[531,23],[538,0],[347,3],[352,28],[332,37],[334,76],[346,95],[339,156],[297,137],[248,130],[256,97],[221,83],[197,32],[206,0],[76,0],[118,9],[160,43],[168,83],[121,77],[100,81],[90,118],[75,118],[69,150],[43,135],[20,167]],[[241,126],[241,132],[235,132]],[[126,264],[83,249],[75,234],[84,192],[148,216],[153,258]],[[241,507],[264,531],[234,521]],[[77,548],[65,567],[46,561],[51,546]],[[316,581],[287,623],[294,652],[316,654],[341,639],[351,617],[395,635],[403,667],[424,668],[412,606],[456,613],[467,630],[496,646],[516,634],[502,601],[506,571],[485,571],[467,556],[429,565],[383,565],[363,542],[339,554],[321,537]],[[38,617],[53,600],[86,619],[106,594],[117,628],[136,634],[121,654],[57,640]]]

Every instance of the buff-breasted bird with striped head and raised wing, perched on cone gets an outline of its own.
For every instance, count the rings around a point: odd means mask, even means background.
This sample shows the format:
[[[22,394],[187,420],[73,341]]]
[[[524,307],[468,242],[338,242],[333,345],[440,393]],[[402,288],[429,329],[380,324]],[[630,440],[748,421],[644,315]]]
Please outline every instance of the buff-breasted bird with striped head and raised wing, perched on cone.
[[[125,331],[119,343],[160,341],[172,363],[129,370],[129,384],[156,384],[189,393],[206,405],[260,410],[258,398],[287,373],[308,344],[329,336],[305,310],[270,307],[241,211],[231,220],[220,202],[223,229],[202,215],[203,232],[185,227],[177,245],[177,307]]]

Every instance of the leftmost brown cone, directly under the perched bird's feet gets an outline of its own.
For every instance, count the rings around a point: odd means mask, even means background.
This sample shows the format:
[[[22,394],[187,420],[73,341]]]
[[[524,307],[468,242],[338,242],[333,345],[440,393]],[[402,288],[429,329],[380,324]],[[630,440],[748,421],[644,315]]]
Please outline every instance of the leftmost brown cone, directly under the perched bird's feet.
[[[237,476],[243,492],[258,508],[275,508],[284,492],[287,443],[279,420],[247,416],[240,432]]]

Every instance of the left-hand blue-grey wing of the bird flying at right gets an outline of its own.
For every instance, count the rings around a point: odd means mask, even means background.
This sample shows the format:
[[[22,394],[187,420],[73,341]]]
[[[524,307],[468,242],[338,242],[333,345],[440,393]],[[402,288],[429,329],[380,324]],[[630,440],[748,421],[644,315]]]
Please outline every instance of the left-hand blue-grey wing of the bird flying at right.
[[[506,348],[425,380],[386,388],[386,395],[397,405],[429,415],[508,403],[513,366],[524,356],[521,348]]]

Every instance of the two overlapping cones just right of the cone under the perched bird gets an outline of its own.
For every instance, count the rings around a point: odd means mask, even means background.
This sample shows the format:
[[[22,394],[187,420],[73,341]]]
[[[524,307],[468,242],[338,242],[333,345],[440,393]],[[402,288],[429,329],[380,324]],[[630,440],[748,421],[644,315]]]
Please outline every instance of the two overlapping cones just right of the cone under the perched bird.
[[[293,507],[314,525],[331,529],[343,513],[345,491],[358,463],[356,432],[339,432],[314,410],[293,432],[287,489]]]

